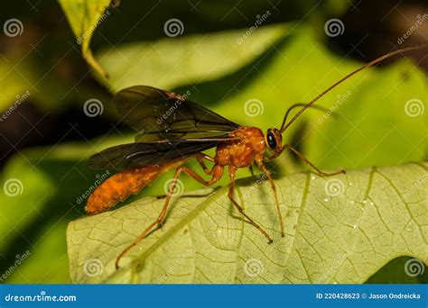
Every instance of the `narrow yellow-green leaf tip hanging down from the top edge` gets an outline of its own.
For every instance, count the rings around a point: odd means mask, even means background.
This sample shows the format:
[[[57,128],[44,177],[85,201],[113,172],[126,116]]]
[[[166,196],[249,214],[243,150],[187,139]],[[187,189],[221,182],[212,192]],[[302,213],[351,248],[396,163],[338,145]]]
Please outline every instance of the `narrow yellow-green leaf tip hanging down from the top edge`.
[[[102,23],[110,15],[106,9],[110,0],[58,0],[64,11],[78,43],[81,45],[83,58],[94,68],[101,77],[107,77],[107,72],[102,68],[89,48],[92,34],[99,23]]]

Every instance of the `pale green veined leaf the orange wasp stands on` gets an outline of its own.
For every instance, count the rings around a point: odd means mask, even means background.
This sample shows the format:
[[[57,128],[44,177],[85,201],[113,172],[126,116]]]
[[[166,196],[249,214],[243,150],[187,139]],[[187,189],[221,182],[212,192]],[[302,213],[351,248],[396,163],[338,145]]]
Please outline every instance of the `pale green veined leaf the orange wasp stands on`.
[[[163,229],[117,255],[160,213],[163,199],[70,222],[75,283],[363,283],[388,261],[428,262],[428,163],[367,168],[338,177],[276,179],[279,233],[269,183],[247,178],[236,197],[274,238],[267,244],[232,208],[228,187],[174,198]],[[405,270],[405,268],[403,268]]]

